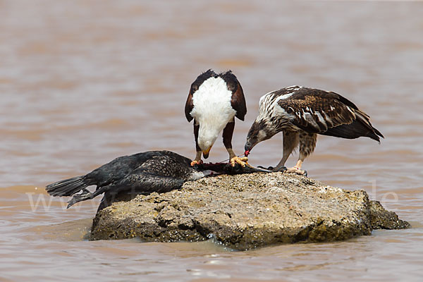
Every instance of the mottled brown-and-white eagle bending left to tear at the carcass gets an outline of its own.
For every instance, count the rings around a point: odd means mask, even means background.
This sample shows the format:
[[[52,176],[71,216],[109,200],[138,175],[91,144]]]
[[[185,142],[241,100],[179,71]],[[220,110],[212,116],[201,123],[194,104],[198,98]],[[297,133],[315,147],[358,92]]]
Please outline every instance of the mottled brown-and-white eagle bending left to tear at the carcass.
[[[247,135],[245,156],[252,147],[276,133],[283,133],[283,157],[274,171],[306,174],[302,162],[312,154],[317,134],[355,139],[384,137],[372,126],[364,111],[335,92],[291,86],[269,92],[260,98],[259,116]],[[300,155],[293,168],[286,168],[289,155],[300,144]]]

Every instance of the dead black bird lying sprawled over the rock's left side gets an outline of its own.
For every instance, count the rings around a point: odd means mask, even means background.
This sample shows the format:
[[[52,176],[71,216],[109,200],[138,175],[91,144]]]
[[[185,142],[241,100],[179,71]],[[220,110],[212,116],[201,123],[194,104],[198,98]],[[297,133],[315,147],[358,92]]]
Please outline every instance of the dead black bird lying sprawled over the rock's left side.
[[[51,196],[73,196],[68,207],[104,194],[99,209],[107,207],[106,199],[121,192],[134,194],[168,192],[180,188],[185,181],[209,176],[214,171],[198,171],[191,160],[169,151],[149,151],[118,157],[85,176],[76,176],[47,185]],[[88,186],[97,185],[94,192]],[[76,194],[82,191],[80,194]]]

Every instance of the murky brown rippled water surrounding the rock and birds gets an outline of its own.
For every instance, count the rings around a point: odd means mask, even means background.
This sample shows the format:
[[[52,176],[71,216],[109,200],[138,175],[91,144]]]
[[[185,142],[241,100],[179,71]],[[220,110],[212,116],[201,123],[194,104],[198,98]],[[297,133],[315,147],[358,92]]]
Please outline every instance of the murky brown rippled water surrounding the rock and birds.
[[[420,281],[422,10],[408,1],[0,1],[0,281]],[[98,202],[66,210],[44,185],[149,149],[193,157],[183,106],[207,68],[232,69],[243,85],[238,154],[266,92],[305,85],[353,100],[386,139],[321,137],[304,167],[364,188],[413,228],[248,252],[84,240]],[[276,164],[281,147],[281,137],[258,145],[250,163]],[[226,158],[216,144],[211,161]]]

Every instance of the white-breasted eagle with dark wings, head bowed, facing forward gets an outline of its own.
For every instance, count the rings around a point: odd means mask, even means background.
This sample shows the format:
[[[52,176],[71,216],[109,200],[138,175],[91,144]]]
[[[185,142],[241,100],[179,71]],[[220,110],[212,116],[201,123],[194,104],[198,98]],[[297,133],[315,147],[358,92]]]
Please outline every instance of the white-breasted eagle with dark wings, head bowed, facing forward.
[[[235,116],[244,121],[247,114],[245,97],[240,82],[231,71],[216,74],[209,70],[192,82],[185,104],[188,121],[194,119],[196,156],[191,165],[201,164],[209,157],[219,133],[223,130],[223,145],[229,154],[232,166],[245,166],[246,157],[236,157],[232,149],[232,135]]]

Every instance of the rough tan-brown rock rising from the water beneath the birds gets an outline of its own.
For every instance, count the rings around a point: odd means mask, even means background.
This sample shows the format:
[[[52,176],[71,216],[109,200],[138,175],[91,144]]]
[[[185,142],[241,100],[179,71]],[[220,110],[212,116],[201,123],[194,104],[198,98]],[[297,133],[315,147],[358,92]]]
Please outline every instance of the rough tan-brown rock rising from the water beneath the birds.
[[[94,218],[91,240],[214,238],[235,250],[279,243],[329,242],[410,224],[369,201],[305,176],[252,173],[187,182],[180,190],[115,202]]]

